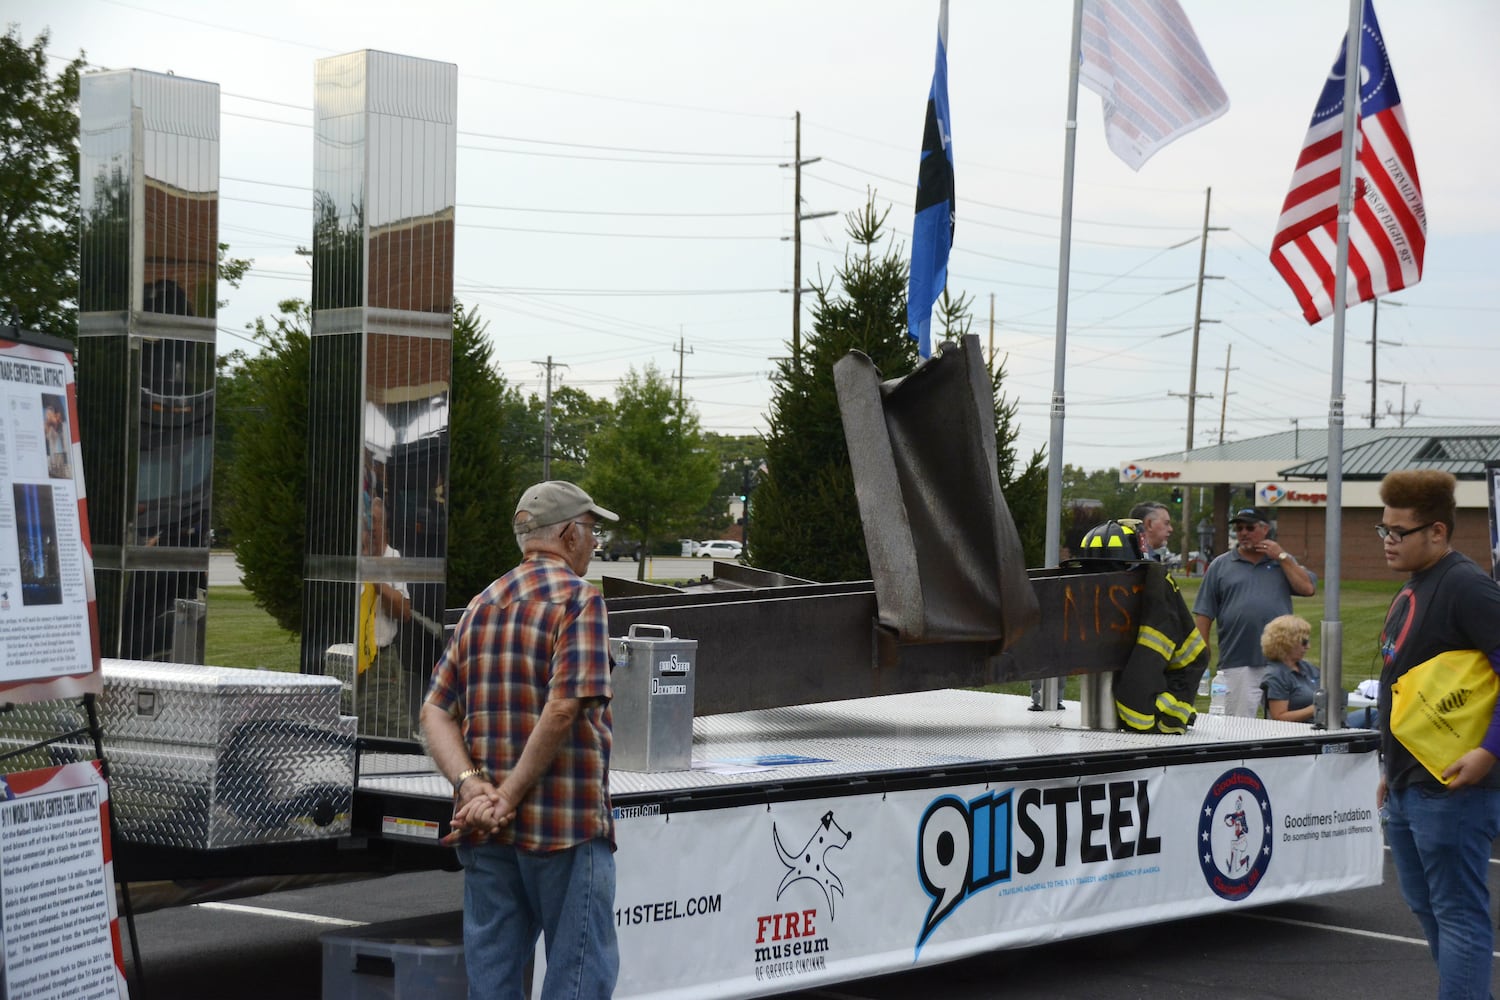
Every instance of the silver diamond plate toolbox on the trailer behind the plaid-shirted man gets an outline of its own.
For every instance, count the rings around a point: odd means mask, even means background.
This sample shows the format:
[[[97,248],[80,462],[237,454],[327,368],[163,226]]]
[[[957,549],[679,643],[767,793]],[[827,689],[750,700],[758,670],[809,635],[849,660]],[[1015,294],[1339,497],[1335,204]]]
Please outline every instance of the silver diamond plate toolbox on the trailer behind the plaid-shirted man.
[[[124,840],[214,849],[350,832],[354,724],[336,678],[134,660],[104,661],[100,724]],[[6,742],[82,727],[76,705],[16,706]],[[92,753],[74,744],[24,766]],[[30,756],[28,756],[30,757]]]

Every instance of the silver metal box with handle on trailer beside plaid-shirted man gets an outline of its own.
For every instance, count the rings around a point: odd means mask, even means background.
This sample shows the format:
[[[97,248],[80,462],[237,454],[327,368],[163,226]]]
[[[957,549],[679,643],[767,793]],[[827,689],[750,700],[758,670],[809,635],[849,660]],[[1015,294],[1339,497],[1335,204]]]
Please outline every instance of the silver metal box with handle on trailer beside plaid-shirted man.
[[[615,661],[610,769],[687,771],[693,766],[693,660],[696,639],[672,639],[666,625],[632,625],[609,640]]]

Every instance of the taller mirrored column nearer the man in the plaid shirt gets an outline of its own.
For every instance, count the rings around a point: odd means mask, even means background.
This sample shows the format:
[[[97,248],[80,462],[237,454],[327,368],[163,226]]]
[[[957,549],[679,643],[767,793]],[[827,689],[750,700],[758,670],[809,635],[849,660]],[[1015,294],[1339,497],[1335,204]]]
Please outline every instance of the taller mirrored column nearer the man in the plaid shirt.
[[[302,667],[404,739],[442,649],[458,67],[318,60]]]

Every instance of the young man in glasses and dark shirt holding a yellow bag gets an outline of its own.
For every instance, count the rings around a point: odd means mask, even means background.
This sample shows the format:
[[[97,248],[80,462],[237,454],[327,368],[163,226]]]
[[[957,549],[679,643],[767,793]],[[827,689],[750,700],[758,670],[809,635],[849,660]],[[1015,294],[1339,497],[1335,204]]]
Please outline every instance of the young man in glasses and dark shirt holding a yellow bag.
[[[1401,895],[1437,963],[1437,996],[1485,1000],[1490,852],[1500,837],[1500,585],[1449,544],[1454,489],[1437,469],[1380,483],[1386,565],[1412,579],[1380,633],[1376,799]]]

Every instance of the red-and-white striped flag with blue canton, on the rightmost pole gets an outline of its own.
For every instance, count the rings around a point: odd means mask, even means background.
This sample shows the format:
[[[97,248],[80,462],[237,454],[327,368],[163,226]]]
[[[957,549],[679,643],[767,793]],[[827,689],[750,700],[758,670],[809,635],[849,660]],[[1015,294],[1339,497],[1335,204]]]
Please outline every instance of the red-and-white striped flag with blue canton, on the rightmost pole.
[[[1270,241],[1270,262],[1292,286],[1308,322],[1334,315],[1347,43],[1346,37],[1312,111],[1298,168],[1292,174],[1292,190],[1281,205],[1276,235]],[[1346,306],[1416,285],[1422,280],[1426,250],[1422,183],[1416,175],[1401,94],[1371,0],[1365,0],[1359,69]]]

